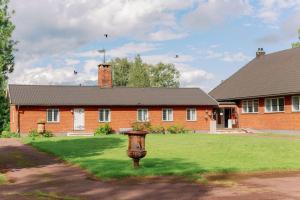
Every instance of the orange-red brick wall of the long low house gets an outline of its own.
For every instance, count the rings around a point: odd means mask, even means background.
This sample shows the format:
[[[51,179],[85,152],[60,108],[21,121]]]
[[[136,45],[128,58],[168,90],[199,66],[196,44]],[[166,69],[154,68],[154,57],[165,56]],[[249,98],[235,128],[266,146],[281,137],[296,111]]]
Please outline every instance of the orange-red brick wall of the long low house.
[[[59,108],[60,122],[46,123],[46,129],[53,133],[66,133],[73,131],[73,107],[53,107]],[[80,107],[76,107],[80,108]],[[85,109],[85,131],[93,132],[101,123],[98,122],[98,110],[101,107],[81,107]],[[111,109],[110,125],[114,130],[119,128],[130,128],[131,123],[137,120],[136,107],[104,107]],[[173,108],[174,121],[162,122],[162,107],[143,107],[149,110],[149,119],[152,125],[170,126],[174,124],[184,125],[191,130],[209,130],[209,119],[206,119],[207,113],[212,112],[212,107],[197,107],[197,121],[186,121],[187,107]],[[46,121],[47,107],[20,107],[20,132],[28,133],[31,129],[37,128],[37,122]],[[12,126],[12,124],[11,124]]]

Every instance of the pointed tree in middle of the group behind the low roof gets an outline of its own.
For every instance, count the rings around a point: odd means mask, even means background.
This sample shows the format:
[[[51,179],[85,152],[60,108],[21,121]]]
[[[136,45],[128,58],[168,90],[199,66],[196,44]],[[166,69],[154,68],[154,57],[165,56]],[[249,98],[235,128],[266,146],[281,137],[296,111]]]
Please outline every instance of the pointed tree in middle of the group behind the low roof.
[[[143,63],[141,57],[137,55],[133,65],[129,70],[128,85],[129,87],[150,87],[148,65]]]

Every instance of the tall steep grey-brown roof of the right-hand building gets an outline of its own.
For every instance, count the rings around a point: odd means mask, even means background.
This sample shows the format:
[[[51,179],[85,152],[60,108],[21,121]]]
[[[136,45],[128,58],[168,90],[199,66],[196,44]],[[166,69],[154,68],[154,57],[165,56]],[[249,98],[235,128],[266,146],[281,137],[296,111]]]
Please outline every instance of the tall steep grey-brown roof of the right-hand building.
[[[254,58],[209,94],[218,101],[300,93],[300,48]]]

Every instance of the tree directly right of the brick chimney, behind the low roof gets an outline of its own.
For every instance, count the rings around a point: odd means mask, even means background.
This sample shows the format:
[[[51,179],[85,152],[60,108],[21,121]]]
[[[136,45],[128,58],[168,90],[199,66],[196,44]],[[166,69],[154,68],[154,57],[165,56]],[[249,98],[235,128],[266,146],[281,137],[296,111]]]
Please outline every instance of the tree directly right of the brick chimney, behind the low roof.
[[[126,86],[128,84],[128,74],[132,63],[127,58],[116,58],[110,61],[112,66],[112,76],[114,86]]]

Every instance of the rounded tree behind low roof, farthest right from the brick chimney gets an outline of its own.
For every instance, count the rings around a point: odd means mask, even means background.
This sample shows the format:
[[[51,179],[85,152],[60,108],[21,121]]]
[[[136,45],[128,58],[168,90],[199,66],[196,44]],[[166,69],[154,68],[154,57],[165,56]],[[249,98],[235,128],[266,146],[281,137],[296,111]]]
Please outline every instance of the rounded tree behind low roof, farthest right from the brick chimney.
[[[180,73],[173,64],[158,63],[150,67],[151,87],[178,88]]]

